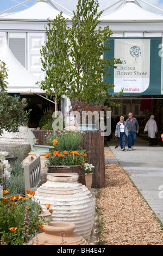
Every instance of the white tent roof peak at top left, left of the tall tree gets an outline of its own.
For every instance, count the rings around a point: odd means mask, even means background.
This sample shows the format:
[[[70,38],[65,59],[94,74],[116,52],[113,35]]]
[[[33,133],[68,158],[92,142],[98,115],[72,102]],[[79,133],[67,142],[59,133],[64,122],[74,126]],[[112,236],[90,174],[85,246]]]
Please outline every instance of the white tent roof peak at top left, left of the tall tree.
[[[36,0],[34,4],[23,10],[15,13],[3,13],[0,15],[0,19],[5,20],[51,20],[55,19],[55,16],[60,14],[60,11],[55,9],[54,5],[51,5],[47,0]],[[71,16],[62,13],[66,19],[71,20]]]

